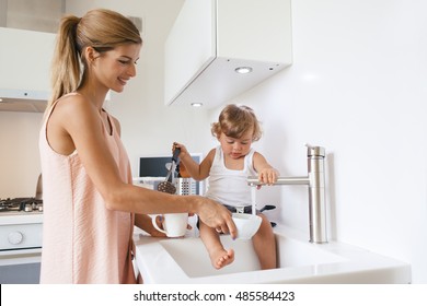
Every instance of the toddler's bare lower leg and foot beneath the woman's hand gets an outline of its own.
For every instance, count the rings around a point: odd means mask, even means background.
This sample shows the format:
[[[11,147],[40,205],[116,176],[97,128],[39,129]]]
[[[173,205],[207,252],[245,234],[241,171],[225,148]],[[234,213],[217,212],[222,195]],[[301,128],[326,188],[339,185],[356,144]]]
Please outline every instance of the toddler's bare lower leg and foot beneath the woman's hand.
[[[219,234],[211,227],[207,226],[200,221],[199,224],[200,238],[208,250],[210,261],[214,268],[221,269],[230,264],[234,260],[234,250],[226,250],[219,239]]]

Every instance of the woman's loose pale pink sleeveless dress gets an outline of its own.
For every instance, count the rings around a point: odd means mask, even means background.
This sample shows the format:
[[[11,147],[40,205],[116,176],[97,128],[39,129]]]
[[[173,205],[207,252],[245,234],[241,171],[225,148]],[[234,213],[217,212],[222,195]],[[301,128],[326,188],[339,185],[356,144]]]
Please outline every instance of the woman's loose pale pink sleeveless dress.
[[[105,208],[77,151],[66,156],[50,148],[46,126],[51,111],[39,137],[44,187],[41,283],[135,283],[134,214]],[[104,126],[103,137],[122,179],[131,184],[127,153],[109,116],[108,120],[112,134]]]

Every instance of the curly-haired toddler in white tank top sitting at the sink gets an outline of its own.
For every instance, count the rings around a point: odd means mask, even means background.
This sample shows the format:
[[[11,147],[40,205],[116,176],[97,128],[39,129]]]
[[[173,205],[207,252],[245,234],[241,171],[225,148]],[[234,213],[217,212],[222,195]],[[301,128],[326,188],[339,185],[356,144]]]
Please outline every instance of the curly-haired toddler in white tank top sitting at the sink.
[[[174,143],[180,148],[180,160],[188,174],[196,180],[209,177],[206,197],[216,200],[231,212],[252,213],[252,193],[246,183],[247,176],[256,175],[263,184],[274,184],[278,172],[266,158],[252,148],[254,141],[261,138],[261,127],[252,108],[230,104],[220,113],[218,122],[212,123],[211,133],[219,145],[208,153],[200,164],[197,164],[185,145]],[[252,238],[255,252],[262,269],[276,268],[276,244],[268,219],[262,217],[259,229]],[[200,238],[204,242],[212,266],[216,269],[234,260],[234,250],[226,250],[219,238],[220,228],[211,228],[199,222]],[[239,233],[238,233],[239,234]]]

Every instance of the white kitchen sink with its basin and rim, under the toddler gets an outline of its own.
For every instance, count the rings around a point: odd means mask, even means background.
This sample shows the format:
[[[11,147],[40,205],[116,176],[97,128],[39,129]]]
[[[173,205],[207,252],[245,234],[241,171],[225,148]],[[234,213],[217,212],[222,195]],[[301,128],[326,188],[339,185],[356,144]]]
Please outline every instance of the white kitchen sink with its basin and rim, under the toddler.
[[[311,244],[287,227],[275,228],[278,269],[259,270],[251,240],[221,237],[234,262],[216,270],[199,238],[135,235],[136,262],[145,283],[411,283],[411,266],[331,242]]]

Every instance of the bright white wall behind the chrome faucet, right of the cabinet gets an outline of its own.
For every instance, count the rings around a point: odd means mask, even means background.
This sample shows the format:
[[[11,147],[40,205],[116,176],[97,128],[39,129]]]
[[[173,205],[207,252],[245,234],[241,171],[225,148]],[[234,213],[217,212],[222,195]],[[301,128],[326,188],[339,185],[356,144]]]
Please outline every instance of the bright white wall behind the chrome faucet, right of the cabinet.
[[[232,101],[255,108],[256,145],[284,176],[305,174],[304,142],[325,146],[331,236],[411,262],[414,283],[427,282],[426,11],[295,0],[293,64]],[[308,232],[307,189],[272,188],[258,202]]]

